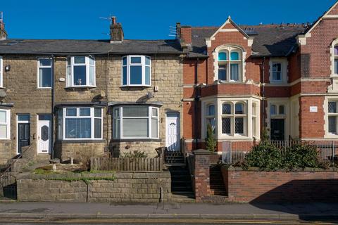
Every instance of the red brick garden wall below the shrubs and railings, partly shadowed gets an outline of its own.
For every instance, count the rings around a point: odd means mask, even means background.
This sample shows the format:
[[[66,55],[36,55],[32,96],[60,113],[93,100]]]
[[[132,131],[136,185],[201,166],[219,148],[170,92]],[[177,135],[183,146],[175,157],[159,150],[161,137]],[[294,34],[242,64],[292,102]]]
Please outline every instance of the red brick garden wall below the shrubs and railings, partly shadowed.
[[[337,202],[337,171],[260,172],[222,167],[230,201]]]

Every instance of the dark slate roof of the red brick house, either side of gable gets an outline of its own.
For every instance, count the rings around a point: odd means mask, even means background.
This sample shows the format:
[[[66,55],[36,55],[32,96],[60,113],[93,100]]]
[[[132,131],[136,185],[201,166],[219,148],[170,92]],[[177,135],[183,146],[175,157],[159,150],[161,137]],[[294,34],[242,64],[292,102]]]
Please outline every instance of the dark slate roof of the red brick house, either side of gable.
[[[239,26],[253,37],[254,56],[287,56],[297,45],[296,36],[306,30],[304,25]],[[206,57],[206,37],[211,37],[219,27],[192,27],[192,51],[188,57]]]

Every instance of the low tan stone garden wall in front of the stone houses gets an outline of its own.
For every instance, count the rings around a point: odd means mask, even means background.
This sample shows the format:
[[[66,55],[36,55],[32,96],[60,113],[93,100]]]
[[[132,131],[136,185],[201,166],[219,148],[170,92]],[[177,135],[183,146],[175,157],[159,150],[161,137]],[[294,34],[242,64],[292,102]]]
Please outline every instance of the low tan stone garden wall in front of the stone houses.
[[[106,177],[107,174],[72,174],[72,177]],[[114,181],[52,180],[64,174],[20,174],[17,177],[19,201],[56,202],[127,202],[158,203],[163,188],[163,201],[171,198],[169,172],[117,172]]]

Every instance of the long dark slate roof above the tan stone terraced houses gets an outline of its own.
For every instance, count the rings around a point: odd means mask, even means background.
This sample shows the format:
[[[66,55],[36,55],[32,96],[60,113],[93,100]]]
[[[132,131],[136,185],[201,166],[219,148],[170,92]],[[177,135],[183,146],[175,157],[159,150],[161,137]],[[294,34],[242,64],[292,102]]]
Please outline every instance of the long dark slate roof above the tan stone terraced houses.
[[[0,41],[0,54],[180,54],[177,40],[6,39]]]

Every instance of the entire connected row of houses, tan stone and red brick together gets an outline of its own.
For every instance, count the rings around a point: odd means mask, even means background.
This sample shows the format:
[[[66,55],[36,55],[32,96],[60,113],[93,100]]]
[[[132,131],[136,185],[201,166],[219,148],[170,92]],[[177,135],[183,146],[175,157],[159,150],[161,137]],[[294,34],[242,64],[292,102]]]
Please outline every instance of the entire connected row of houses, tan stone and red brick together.
[[[338,139],[338,3],[313,24],[177,23],[170,40],[0,38],[0,164]],[[27,148],[27,147],[25,147]]]

